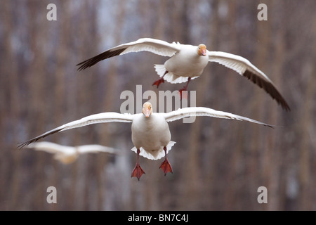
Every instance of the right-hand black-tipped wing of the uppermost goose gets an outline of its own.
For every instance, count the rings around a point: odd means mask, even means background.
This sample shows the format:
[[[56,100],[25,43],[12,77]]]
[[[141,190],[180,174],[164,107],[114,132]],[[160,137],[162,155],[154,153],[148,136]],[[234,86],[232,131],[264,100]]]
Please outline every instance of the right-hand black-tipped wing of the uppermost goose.
[[[248,78],[254,84],[257,84],[263,88],[270,96],[279,103],[279,105],[284,108],[284,110],[289,111],[289,105],[287,101],[284,100],[279,91],[275,88],[273,82],[265,75],[261,70],[256,68],[253,64],[249,62],[246,58],[242,56],[236,56],[231,53],[225,53],[222,51],[208,51],[209,61],[220,63],[226,67],[235,70],[240,75]]]

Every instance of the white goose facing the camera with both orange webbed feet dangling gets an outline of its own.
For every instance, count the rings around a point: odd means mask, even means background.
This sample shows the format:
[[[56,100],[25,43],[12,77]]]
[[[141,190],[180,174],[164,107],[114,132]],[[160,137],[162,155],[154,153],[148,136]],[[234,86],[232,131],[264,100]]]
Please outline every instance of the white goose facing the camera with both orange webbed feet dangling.
[[[190,117],[192,115],[219,117],[232,120],[245,120],[248,122],[254,122],[257,124],[262,124],[264,126],[272,127],[272,125],[258,122],[256,120],[251,120],[247,117],[216,111],[211,108],[204,107],[181,108],[170,113],[152,113],[152,104],[146,102],[143,104],[142,113],[137,113],[133,115],[121,113],[98,113],[94,115],[89,115],[80,120],[75,120],[73,122],[69,122],[60,127],[47,131],[46,133],[41,134],[34,139],[30,139],[29,141],[21,143],[18,147],[22,148],[29,145],[29,143],[38,141],[39,139],[44,138],[45,136],[48,136],[50,134],[54,134],[56,132],[65,131],[67,129],[73,129],[76,127],[83,127],[89,124],[103,122],[132,122],[131,139],[135,147],[131,150],[137,153],[137,163],[136,167],[133,169],[131,176],[136,176],[139,180],[140,176],[145,173],[139,165],[139,155],[142,155],[143,157],[150,160],[159,160],[160,158],[165,156],[165,160],[164,162],[162,162],[162,165],[160,165],[159,168],[162,168],[165,175],[167,172],[172,172],[171,165],[166,155],[176,142],[171,141],[171,134],[167,122],[180,120],[184,117]]]

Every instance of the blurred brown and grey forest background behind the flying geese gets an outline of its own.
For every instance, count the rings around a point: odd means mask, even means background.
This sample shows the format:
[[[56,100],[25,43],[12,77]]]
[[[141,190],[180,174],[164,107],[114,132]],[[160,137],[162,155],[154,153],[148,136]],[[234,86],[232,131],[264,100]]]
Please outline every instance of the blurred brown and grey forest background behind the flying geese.
[[[48,21],[48,4],[57,21]],[[259,21],[258,4],[268,6]],[[316,210],[316,1],[2,0],[0,8],[0,210]],[[94,124],[43,141],[101,144],[122,155],[81,155],[62,165],[18,143],[86,115],[119,112],[124,90],[151,86],[167,58],[129,53],[77,72],[76,64],[118,44],[152,37],[243,56],[265,72],[291,107],[233,70],[209,63],[189,91],[197,106],[280,127],[197,117],[169,124],[173,174],[136,154],[131,124]],[[138,99],[138,101],[145,100]],[[48,204],[48,186],[57,204]],[[268,188],[259,204],[258,187]]]

